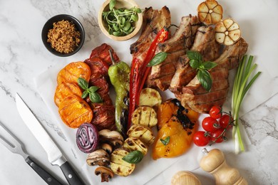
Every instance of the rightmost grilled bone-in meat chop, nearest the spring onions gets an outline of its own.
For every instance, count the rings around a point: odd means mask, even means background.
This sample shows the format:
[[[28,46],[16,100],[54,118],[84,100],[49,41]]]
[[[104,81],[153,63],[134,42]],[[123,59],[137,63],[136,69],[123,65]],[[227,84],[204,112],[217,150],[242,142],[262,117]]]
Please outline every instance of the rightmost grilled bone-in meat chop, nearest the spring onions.
[[[197,76],[182,88],[182,95],[179,99],[182,106],[200,113],[209,112],[213,105],[222,106],[226,100],[229,90],[229,70],[236,68],[239,61],[246,53],[248,44],[243,38],[232,46],[227,46],[222,55],[215,60],[217,66],[210,70],[212,76],[212,88],[207,92]]]

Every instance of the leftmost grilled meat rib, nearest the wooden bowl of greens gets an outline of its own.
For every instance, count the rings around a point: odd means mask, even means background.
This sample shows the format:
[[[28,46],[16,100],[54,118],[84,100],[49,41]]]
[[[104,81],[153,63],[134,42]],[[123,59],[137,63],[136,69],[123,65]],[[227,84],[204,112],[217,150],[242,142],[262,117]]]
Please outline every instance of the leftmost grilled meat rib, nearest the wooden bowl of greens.
[[[158,31],[164,27],[168,28],[170,24],[171,16],[167,6],[164,6],[160,11],[154,10],[152,7],[145,9],[142,33],[138,41],[130,46],[130,53],[133,58],[143,61]]]

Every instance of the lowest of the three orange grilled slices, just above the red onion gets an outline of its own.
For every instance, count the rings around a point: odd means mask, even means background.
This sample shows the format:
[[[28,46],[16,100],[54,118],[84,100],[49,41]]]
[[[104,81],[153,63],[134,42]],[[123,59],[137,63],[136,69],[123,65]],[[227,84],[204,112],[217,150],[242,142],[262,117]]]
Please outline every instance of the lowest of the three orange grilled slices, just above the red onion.
[[[63,122],[77,128],[84,122],[91,122],[93,111],[86,101],[77,95],[69,95],[60,104],[58,112]]]

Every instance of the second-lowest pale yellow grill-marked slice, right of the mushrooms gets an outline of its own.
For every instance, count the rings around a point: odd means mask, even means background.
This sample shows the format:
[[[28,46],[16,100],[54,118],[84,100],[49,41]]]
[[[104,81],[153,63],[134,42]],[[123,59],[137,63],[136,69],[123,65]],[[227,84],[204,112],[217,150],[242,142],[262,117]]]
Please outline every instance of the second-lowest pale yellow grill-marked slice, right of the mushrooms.
[[[123,147],[128,149],[130,152],[138,150],[144,155],[148,152],[148,146],[146,146],[140,139],[136,137],[128,137],[128,139],[125,139]]]

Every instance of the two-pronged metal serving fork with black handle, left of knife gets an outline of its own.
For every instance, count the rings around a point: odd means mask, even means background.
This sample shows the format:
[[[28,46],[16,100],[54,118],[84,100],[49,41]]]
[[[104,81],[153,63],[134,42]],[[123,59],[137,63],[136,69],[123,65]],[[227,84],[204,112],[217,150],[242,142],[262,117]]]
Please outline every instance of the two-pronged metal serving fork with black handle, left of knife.
[[[3,129],[1,129],[1,127]],[[40,165],[38,165],[36,162],[34,162],[29,154],[26,154],[24,150],[22,149],[22,146],[16,137],[7,129],[4,127],[2,122],[0,122],[0,129],[6,132],[6,136],[9,137],[9,141],[1,136],[0,134],[0,142],[3,144],[7,149],[9,149],[14,154],[20,154],[22,157],[24,157],[25,162],[31,166],[36,173],[41,176],[41,178],[46,181],[47,184],[50,185],[61,185],[62,183],[58,181],[55,177],[53,177],[51,174],[48,173],[45,169],[43,169]],[[0,132],[1,133],[1,132]]]

